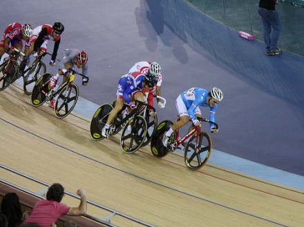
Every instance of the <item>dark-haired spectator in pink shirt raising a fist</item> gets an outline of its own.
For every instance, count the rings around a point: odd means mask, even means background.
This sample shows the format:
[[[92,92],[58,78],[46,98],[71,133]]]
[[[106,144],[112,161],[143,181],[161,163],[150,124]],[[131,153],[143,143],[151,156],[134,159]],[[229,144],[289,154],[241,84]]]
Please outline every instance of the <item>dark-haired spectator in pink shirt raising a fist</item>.
[[[61,184],[53,184],[48,188],[46,199],[37,201],[24,224],[34,222],[42,227],[50,227],[62,215],[86,215],[86,192],[83,189],[78,189],[76,193],[80,197],[80,204],[78,207],[71,208],[70,206],[61,204],[61,200],[64,197],[64,187]]]

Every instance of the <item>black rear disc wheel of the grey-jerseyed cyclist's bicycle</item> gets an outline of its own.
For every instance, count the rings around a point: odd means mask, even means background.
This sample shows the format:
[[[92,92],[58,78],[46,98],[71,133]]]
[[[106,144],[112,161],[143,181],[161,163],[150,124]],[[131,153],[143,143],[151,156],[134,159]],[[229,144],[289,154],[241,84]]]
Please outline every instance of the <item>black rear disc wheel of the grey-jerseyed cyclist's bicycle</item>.
[[[32,104],[36,107],[41,106],[46,101],[46,93],[50,91],[50,86],[48,86],[48,81],[53,75],[50,72],[44,73],[35,83],[34,88],[32,88]]]

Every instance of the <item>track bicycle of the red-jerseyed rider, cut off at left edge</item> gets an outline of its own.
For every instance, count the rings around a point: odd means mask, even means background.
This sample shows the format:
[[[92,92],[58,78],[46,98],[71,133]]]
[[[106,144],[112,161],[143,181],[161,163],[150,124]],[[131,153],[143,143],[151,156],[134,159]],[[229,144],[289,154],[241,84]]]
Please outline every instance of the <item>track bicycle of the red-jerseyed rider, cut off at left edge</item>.
[[[24,55],[24,53],[17,48],[9,48],[6,53],[8,57],[6,57],[0,65],[0,90],[6,89],[10,83],[14,83],[20,77],[17,59],[19,55]]]

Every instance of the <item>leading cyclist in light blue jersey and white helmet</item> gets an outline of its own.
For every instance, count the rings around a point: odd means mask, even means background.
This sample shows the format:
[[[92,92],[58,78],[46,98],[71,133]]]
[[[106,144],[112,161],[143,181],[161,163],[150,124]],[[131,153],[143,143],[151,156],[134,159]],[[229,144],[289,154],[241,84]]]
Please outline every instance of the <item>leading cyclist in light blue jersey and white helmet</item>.
[[[180,116],[180,121],[175,121],[171,128],[164,134],[162,144],[167,147],[172,133],[178,128],[185,126],[189,122],[189,116],[193,123],[191,127],[200,124],[200,121],[196,119],[196,117],[201,117],[199,106],[209,107],[209,120],[215,122],[218,103],[222,101],[223,97],[222,91],[218,88],[212,88],[210,92],[202,88],[190,88],[182,92],[176,99],[176,108]],[[210,127],[211,132],[218,132],[213,124],[210,124]]]

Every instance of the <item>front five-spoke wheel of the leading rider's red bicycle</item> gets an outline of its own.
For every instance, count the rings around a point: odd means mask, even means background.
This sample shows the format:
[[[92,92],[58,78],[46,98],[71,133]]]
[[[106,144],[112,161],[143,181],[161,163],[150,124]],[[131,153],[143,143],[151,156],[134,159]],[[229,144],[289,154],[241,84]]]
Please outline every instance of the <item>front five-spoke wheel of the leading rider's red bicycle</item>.
[[[207,163],[211,150],[212,141],[207,132],[193,135],[184,146],[184,163],[191,170],[198,170]]]

